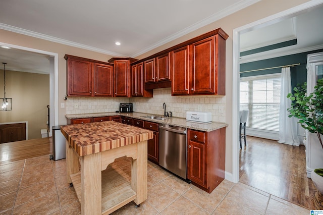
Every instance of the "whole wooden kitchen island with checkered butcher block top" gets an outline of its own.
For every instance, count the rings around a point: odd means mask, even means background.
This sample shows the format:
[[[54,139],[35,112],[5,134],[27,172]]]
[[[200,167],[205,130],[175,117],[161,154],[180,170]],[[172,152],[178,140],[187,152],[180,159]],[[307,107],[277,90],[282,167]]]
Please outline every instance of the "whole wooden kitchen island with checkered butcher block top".
[[[147,140],[153,132],[114,121],[66,125],[68,183],[73,183],[82,214],[109,214],[147,199]],[[112,164],[132,158],[131,179]],[[109,167],[108,167],[109,166]]]

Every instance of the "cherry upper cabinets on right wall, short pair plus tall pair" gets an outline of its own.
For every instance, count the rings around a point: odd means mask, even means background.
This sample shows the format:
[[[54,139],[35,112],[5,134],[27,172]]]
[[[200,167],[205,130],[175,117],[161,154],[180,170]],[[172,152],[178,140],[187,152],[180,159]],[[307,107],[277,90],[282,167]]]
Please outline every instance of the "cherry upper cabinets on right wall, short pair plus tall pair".
[[[172,87],[172,95],[225,95],[228,37],[218,28],[137,61],[144,64],[144,88]]]

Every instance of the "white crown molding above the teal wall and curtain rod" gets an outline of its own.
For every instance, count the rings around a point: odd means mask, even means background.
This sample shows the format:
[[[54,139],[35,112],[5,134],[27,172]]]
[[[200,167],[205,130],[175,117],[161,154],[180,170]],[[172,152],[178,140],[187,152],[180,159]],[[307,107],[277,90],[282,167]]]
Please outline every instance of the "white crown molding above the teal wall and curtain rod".
[[[315,46],[306,47],[306,48],[299,48],[296,50],[286,50],[286,51],[281,51],[279,53],[265,54],[265,52],[262,52],[263,55],[259,55],[259,53],[255,53],[253,55],[241,57],[239,64],[245,64],[245,63],[261,61],[261,60],[266,60],[266,59],[278,58],[278,57],[283,57],[283,56],[288,56],[288,55],[295,55],[297,53],[313,51],[313,50],[318,50],[318,49],[323,49],[323,45],[315,45]],[[268,51],[268,52],[270,52],[270,51]]]

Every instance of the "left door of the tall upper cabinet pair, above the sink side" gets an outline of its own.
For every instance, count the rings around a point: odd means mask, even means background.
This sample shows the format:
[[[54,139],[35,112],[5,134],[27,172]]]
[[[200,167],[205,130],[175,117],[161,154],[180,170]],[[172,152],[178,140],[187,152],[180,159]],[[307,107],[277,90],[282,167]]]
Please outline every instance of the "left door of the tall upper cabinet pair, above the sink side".
[[[172,95],[189,94],[189,46],[171,52]]]

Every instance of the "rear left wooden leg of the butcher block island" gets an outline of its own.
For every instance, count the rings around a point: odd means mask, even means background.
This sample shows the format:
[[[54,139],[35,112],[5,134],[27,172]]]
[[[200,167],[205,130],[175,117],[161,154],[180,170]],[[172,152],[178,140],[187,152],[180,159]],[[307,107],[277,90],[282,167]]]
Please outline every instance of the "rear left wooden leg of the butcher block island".
[[[71,174],[79,172],[79,157],[74,149],[70,146],[69,141],[66,140],[66,169],[67,169],[67,183],[72,183]]]

